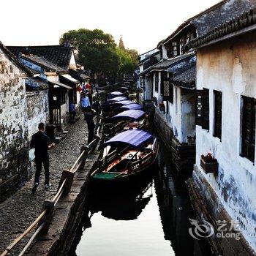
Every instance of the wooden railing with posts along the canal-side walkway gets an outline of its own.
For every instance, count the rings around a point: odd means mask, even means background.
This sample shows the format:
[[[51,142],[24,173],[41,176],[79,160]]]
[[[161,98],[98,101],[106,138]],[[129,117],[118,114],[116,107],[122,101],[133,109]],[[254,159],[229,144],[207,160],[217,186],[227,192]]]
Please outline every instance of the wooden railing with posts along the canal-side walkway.
[[[32,244],[34,239],[37,237],[39,233],[46,234],[48,233],[50,222],[53,219],[54,214],[54,208],[56,204],[59,202],[59,199],[62,195],[67,195],[72,187],[72,182],[74,178],[74,174],[77,170],[82,170],[86,159],[89,154],[91,154],[92,151],[97,147],[97,144],[99,143],[100,137],[100,131],[102,129],[102,119],[97,118],[97,124],[96,124],[96,132],[94,135],[94,140],[89,143],[87,146],[83,146],[80,151],[80,155],[78,159],[75,161],[75,163],[72,165],[72,167],[69,170],[63,170],[61,179],[59,181],[59,189],[56,192],[56,195],[50,199],[45,200],[43,205],[43,211],[41,214],[39,214],[39,217],[34,220],[34,222],[12,243],[7,246],[7,248],[4,250],[4,252],[1,253],[0,256],[6,256],[8,255],[12,249],[15,247],[16,244],[18,244],[23,238],[25,238],[29,233],[31,233],[32,230],[37,226],[34,234],[29,239],[29,242],[26,244],[26,246],[23,248],[23,250],[20,252],[19,256],[22,256],[25,254],[26,250],[29,248],[29,246]]]

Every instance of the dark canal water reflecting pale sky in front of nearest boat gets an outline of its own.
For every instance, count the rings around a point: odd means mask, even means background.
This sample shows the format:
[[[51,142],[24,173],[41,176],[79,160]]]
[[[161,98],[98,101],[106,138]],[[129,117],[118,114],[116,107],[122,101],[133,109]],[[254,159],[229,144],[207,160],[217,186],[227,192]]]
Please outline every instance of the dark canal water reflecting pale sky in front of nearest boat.
[[[165,146],[147,178],[126,191],[94,189],[69,256],[205,256],[207,241],[189,236],[195,219],[184,180]]]

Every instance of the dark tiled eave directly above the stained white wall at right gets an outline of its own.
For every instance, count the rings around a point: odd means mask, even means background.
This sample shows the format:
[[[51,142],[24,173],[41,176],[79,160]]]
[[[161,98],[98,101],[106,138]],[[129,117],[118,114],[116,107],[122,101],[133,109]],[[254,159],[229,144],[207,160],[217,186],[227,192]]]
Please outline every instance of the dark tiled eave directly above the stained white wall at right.
[[[203,36],[197,37],[196,39],[190,41],[189,43],[187,43],[187,45],[184,46],[184,50],[189,50],[190,48],[197,48],[200,45],[206,44],[207,42],[211,42],[220,37],[224,37],[227,34],[239,31],[240,29],[244,29],[255,24],[256,9],[249,10],[249,12],[244,12],[237,18],[228,20],[225,23],[217,26],[215,29],[212,29],[207,34],[204,34]]]

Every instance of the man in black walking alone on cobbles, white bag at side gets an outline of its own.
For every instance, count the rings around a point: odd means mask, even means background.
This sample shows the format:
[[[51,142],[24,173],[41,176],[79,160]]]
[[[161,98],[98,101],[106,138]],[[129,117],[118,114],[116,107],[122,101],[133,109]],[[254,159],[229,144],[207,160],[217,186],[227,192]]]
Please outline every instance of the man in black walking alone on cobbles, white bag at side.
[[[38,125],[38,132],[32,136],[30,147],[34,148],[34,156],[36,162],[36,173],[34,177],[34,187],[32,193],[36,192],[39,178],[42,170],[42,164],[45,169],[45,189],[50,187],[49,183],[49,155],[48,149],[53,148],[55,144],[50,144],[50,138],[45,134],[45,124],[40,123]]]

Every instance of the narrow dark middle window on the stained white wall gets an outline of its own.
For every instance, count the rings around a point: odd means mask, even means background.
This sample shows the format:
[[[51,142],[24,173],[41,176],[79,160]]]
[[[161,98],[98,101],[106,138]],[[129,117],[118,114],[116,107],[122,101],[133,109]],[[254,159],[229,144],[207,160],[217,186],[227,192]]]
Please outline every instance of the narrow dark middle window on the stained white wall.
[[[222,138],[222,92],[214,91],[214,137]]]

